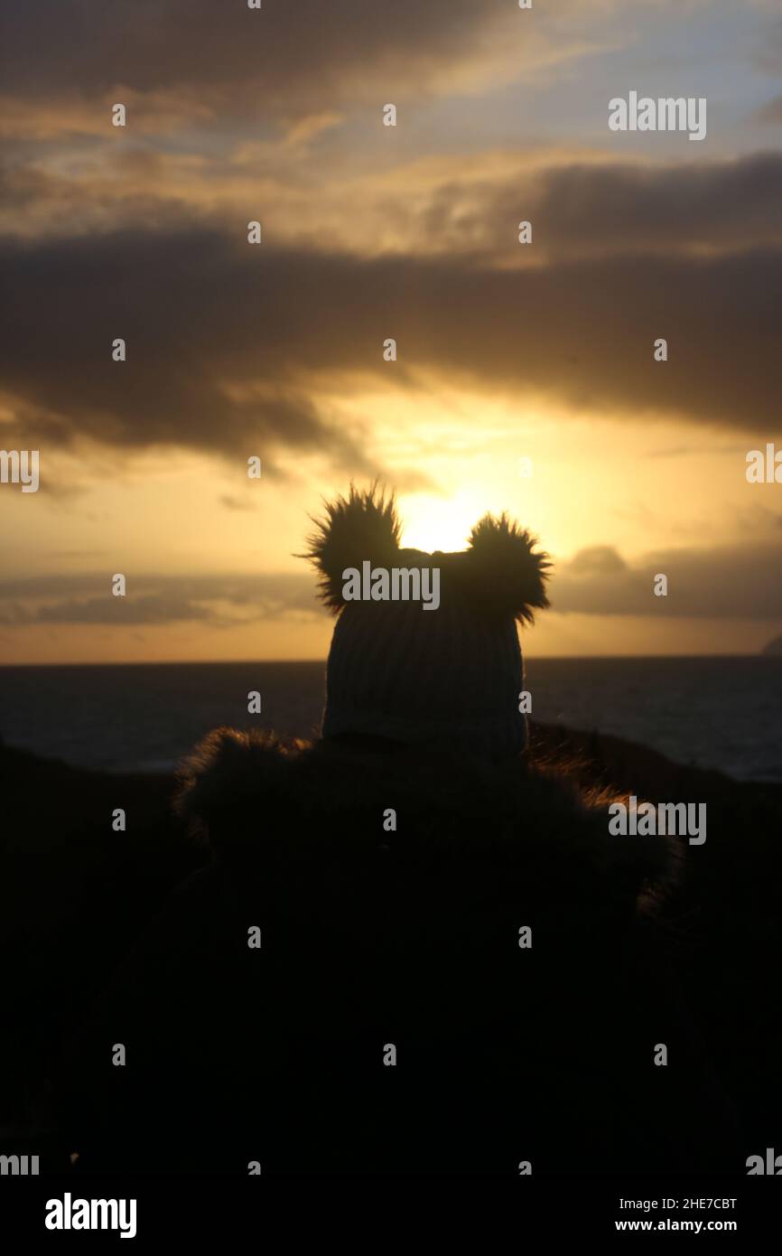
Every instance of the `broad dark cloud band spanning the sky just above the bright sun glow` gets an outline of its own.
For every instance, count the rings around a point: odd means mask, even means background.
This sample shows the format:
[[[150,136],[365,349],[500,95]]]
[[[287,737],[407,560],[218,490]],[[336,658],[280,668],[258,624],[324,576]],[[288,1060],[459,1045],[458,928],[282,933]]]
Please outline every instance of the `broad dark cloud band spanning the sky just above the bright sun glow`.
[[[369,383],[462,382],[575,411],[683,416],[779,432],[782,251],[620,254],[525,271],[481,259],[360,260],[227,240],[139,235],[0,249],[10,327],[0,384],[21,447],[77,433],[119,448],[246,458],[319,452],[356,475],[372,416],[321,396]],[[383,362],[387,337],[399,360]],[[115,337],[128,360],[112,362]],[[668,339],[669,360],[653,359]],[[621,452],[618,453],[621,457]]]

